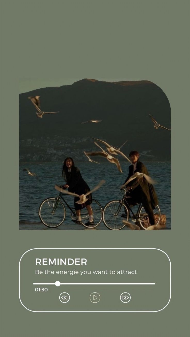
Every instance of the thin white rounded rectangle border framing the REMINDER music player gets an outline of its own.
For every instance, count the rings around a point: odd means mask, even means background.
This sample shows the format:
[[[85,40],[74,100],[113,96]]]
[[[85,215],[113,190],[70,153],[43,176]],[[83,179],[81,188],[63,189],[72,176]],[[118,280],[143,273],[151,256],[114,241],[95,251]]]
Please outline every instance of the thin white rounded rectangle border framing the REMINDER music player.
[[[170,297],[169,297],[169,301],[165,305],[165,307],[163,307],[160,310],[156,310],[156,311],[35,311],[35,310],[30,310],[27,307],[25,307],[25,305],[22,303],[21,298],[20,298],[20,262],[21,262],[22,257],[27,252],[29,252],[30,250],[39,250],[39,249],[60,249],[60,250],[61,249],[67,249],[67,250],[69,250],[69,249],[90,249],[90,250],[96,250],[96,249],[105,249],[105,250],[106,249],[112,249],[112,250],[114,250],[114,249],[117,249],[117,250],[120,250],[120,249],[131,249],[131,250],[134,250],[134,249],[136,249],[136,250],[137,249],[155,249],[155,250],[160,250],[161,252],[163,252],[168,257],[168,260],[169,260],[169,263],[170,263]],[[19,300],[20,300],[21,304],[23,305],[23,307],[25,309],[27,309],[28,311],[31,311],[31,312],[159,312],[159,311],[164,310],[168,306],[168,304],[171,300],[171,261],[170,261],[169,256],[162,249],[159,249],[159,248],[31,248],[31,249],[28,249],[24,252],[24,254],[21,256],[20,261],[19,261]]]

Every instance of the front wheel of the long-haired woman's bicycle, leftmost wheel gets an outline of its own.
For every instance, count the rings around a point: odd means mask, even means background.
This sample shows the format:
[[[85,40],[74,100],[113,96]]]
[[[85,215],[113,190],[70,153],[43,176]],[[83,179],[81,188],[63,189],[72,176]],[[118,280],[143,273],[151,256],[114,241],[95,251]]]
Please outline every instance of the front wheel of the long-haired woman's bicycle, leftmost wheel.
[[[58,227],[64,221],[66,213],[65,207],[59,200],[55,209],[56,201],[57,198],[47,198],[39,206],[39,218],[47,227]]]

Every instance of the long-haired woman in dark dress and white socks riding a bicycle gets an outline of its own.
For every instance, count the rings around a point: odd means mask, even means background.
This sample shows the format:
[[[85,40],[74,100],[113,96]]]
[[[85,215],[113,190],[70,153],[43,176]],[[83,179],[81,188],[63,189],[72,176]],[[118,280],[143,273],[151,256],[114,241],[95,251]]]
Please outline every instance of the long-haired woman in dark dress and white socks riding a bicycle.
[[[64,177],[66,181],[66,184],[63,185],[63,188],[64,189],[68,188],[69,192],[82,195],[90,191],[90,188],[88,187],[87,183],[82,178],[78,167],[75,167],[73,158],[71,157],[65,158],[64,163],[63,163],[63,168],[62,168],[62,176]],[[84,204],[76,204],[76,201],[80,199],[78,197],[75,197],[74,206],[76,210],[77,219],[72,220],[72,221],[81,224],[80,210],[86,207],[88,214],[89,214],[89,221],[86,224],[93,225],[94,223],[93,223],[93,218],[92,218],[92,209],[90,206],[92,203],[91,193],[88,194],[87,198],[88,200]]]

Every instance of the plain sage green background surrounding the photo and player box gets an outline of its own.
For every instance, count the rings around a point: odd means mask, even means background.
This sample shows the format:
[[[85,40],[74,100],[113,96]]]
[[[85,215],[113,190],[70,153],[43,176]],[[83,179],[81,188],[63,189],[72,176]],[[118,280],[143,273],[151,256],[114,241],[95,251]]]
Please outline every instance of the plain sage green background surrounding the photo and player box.
[[[189,1],[1,3],[1,336],[187,336]],[[141,79],[162,88],[172,117],[171,231],[19,232],[18,88],[27,78]],[[29,312],[19,301],[18,264],[38,247],[162,249],[171,259],[171,301],[157,313]]]

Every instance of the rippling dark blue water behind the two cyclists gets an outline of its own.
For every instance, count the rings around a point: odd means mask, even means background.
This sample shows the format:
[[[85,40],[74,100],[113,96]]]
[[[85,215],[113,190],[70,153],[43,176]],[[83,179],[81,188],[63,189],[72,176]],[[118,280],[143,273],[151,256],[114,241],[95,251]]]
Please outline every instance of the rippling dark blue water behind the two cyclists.
[[[81,171],[83,179],[90,188],[105,179],[104,184],[99,190],[95,191],[92,197],[98,200],[102,208],[111,200],[118,200],[122,194],[118,186],[125,182],[128,176],[128,163],[120,162],[123,174],[117,171],[116,165],[109,162],[101,162],[95,164],[91,162],[79,162],[76,166]],[[144,162],[150,176],[155,179],[158,184],[155,190],[159,200],[161,214],[166,215],[166,229],[171,229],[171,167],[170,162]],[[31,177],[23,168],[28,168],[37,177]],[[58,195],[54,189],[54,185],[63,185],[64,180],[61,177],[61,162],[46,163],[27,163],[20,164],[20,229],[48,229],[38,216],[39,205],[48,197]],[[74,207],[74,197],[65,195],[65,199],[71,207]],[[71,212],[66,208],[66,217],[64,222],[56,229],[85,229],[81,225],[71,222]],[[107,229],[102,222],[97,229]],[[125,229],[125,227],[124,227]],[[52,230],[52,228],[50,228]],[[123,229],[122,229],[123,230]]]

